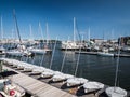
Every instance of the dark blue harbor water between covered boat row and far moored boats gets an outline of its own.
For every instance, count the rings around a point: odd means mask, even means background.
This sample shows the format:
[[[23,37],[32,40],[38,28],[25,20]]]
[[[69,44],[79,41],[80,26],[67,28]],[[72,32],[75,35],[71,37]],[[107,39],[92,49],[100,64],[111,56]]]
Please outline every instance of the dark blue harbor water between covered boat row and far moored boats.
[[[66,56],[65,56],[66,54]],[[50,67],[52,59],[52,70],[61,71],[63,58],[65,56],[65,63],[63,72],[74,74],[78,54],[74,51],[61,51],[60,46],[56,46],[56,50],[53,55],[35,55],[31,57],[12,57],[21,59],[23,61],[31,63],[37,66],[43,66],[46,68]],[[76,77],[86,78],[91,81],[99,81],[107,85],[114,86],[115,83],[115,72],[116,72],[116,61],[117,57],[103,57],[98,55],[87,55],[80,54],[80,59],[78,64],[78,71]],[[117,85],[130,91],[130,58],[120,57],[119,58],[119,73]]]

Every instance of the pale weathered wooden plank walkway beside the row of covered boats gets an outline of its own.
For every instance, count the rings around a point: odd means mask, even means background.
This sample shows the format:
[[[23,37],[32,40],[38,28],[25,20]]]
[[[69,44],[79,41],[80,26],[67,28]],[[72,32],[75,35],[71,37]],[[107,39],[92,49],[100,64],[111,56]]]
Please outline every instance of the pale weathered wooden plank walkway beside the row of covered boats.
[[[5,66],[3,68],[8,70],[13,70]],[[31,94],[34,97],[76,97],[75,95],[51,86],[24,73],[17,73],[18,74],[10,77],[12,81],[22,86],[27,93]]]

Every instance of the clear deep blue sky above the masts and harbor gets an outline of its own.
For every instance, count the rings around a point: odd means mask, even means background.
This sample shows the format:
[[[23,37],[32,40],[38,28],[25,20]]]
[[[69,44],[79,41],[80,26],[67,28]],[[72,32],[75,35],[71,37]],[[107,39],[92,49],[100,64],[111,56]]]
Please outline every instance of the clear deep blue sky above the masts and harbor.
[[[73,40],[74,17],[87,40],[130,36],[130,0],[0,0],[4,38],[17,38],[14,9],[22,39],[47,39],[48,23],[49,39]]]

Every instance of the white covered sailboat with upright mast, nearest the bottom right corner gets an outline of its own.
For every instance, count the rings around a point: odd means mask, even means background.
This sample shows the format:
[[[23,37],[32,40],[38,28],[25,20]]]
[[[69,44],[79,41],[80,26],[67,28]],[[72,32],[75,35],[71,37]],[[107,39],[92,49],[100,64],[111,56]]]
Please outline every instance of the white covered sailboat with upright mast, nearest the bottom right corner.
[[[105,93],[109,97],[127,97],[127,91],[117,86],[119,55],[120,55],[120,41],[119,41],[118,57],[117,57],[117,65],[116,65],[116,72],[115,72],[115,86],[110,86],[105,89]]]

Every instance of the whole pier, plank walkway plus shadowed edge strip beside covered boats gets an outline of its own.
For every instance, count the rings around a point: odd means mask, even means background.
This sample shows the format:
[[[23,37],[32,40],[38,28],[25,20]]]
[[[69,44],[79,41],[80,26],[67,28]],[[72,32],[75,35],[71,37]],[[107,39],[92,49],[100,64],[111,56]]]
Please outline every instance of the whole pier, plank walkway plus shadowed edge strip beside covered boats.
[[[21,72],[14,68],[3,66],[3,69],[14,71],[17,74],[10,75],[14,83],[22,86],[32,97],[77,97],[78,88],[62,89],[63,83],[49,84],[50,79],[38,80],[37,75],[29,77],[29,72]],[[80,97],[96,97],[94,93],[83,94]]]

